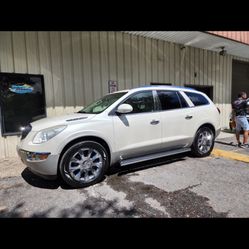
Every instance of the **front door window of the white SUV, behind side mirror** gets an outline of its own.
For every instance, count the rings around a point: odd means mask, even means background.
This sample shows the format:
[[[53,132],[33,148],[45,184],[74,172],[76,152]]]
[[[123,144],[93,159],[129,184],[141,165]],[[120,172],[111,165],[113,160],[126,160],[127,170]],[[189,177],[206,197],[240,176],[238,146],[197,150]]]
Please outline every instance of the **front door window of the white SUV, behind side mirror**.
[[[124,104],[130,104],[133,107],[131,113],[153,112],[154,99],[152,91],[136,93],[127,99]]]

